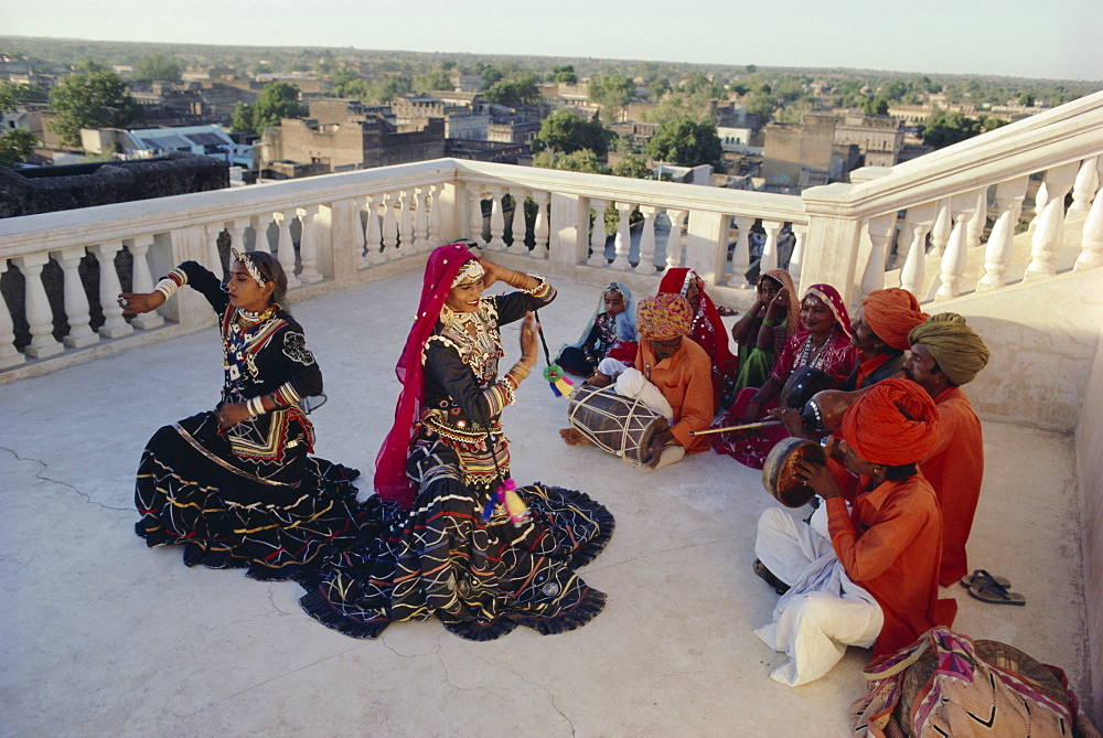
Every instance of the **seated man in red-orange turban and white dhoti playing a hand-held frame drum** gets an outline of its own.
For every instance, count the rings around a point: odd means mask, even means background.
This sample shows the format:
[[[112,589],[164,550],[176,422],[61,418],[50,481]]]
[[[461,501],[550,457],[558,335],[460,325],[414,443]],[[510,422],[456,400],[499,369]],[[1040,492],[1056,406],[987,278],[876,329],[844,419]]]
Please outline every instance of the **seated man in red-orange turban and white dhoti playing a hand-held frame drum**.
[[[942,515],[917,462],[938,440],[939,413],[914,382],[886,379],[843,418],[839,441],[859,475],[853,511],[827,467],[800,460],[796,479],[823,498],[829,538],[781,509],[759,518],[754,552],[790,589],[773,621],[756,634],[789,662],[771,677],[790,686],[815,681],[847,645],[892,653],[953,620],[939,602]]]

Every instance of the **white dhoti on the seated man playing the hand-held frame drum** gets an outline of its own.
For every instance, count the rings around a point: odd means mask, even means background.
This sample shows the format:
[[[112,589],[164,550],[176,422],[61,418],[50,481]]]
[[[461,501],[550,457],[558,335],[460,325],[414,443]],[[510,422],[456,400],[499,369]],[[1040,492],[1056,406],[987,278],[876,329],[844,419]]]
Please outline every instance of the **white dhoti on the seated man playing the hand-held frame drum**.
[[[754,631],[789,656],[771,678],[794,687],[814,682],[838,663],[847,645],[867,648],[877,640],[885,622],[881,608],[846,576],[829,539],[771,509],[759,518],[754,553],[791,585],[773,609],[773,622]]]

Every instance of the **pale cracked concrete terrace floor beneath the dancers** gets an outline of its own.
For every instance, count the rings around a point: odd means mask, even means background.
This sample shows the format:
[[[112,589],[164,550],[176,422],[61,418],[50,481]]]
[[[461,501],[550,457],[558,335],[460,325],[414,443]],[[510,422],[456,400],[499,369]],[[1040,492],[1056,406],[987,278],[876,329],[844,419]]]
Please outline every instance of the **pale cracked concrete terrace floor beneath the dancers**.
[[[317,451],[362,480],[389,427],[420,279],[292,304],[325,373]],[[553,350],[576,339],[598,291],[556,286],[543,315]],[[516,327],[504,339],[508,365]],[[778,599],[750,569],[756,521],[773,504],[760,472],[707,452],[641,475],[568,448],[556,434],[567,402],[534,373],[505,413],[514,477],[585,490],[613,512],[609,547],[581,570],[606,610],[555,637],[520,628],[474,643],[429,620],[354,640],[307,617],[293,582],[189,569],[179,550],[135,537],[146,440],[213,407],[221,382],[212,328],[0,387],[0,734],[848,735],[869,652],[850,649],[793,689],[769,678],[784,656],[751,632]],[[1060,665],[1085,698],[1070,438],[987,423],[985,440],[971,564],[1010,578],[1027,606],[957,586],[942,596],[960,602],[956,630]]]

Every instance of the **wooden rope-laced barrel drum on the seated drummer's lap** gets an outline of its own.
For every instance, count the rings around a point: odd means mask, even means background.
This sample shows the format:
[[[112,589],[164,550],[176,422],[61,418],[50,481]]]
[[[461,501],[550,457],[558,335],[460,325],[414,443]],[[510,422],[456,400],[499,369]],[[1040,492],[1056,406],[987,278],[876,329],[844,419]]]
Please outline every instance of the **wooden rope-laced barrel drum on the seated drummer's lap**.
[[[667,427],[666,418],[642,400],[588,384],[571,393],[567,419],[595,446],[635,464],[649,461],[647,447]]]

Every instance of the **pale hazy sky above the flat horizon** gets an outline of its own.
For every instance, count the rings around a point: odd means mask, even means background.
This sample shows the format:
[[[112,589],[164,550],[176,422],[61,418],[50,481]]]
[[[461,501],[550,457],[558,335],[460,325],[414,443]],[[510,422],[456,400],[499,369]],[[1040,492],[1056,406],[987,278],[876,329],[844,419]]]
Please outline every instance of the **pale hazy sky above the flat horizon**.
[[[0,0],[0,34],[1103,79],[1100,0]]]

